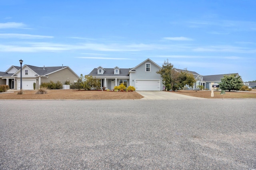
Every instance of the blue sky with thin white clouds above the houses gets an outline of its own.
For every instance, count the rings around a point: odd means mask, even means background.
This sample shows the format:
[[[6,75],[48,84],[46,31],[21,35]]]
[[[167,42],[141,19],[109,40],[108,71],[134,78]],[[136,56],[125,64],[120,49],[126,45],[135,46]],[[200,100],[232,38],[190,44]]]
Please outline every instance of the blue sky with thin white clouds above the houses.
[[[1,0],[0,71],[132,68],[146,59],[256,80],[255,0]]]

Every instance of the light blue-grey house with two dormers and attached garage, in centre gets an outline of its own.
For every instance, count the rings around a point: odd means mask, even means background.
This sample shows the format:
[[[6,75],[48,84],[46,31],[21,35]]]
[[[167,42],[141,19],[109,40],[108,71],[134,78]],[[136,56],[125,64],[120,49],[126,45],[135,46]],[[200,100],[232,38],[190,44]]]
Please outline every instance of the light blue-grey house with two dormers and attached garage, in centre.
[[[88,76],[101,79],[101,87],[114,89],[114,86],[134,86],[136,90],[163,90],[162,78],[156,71],[161,67],[146,59],[134,68],[94,68]]]

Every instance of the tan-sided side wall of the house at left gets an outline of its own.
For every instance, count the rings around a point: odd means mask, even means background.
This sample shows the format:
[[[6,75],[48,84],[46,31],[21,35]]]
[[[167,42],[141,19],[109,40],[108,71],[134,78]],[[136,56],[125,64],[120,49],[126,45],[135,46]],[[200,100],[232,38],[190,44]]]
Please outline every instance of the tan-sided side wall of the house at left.
[[[78,80],[78,77],[69,68],[64,68],[47,76],[48,78],[41,78],[41,83],[50,81],[56,83],[60,81],[62,84],[65,84],[69,80],[70,83],[74,84],[74,81]]]

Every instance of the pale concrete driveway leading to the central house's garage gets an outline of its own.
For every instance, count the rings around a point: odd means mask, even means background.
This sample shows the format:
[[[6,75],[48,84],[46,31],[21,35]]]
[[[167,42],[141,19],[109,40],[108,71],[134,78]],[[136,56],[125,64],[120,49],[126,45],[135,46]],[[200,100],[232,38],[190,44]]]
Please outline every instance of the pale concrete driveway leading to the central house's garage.
[[[164,91],[136,91],[138,94],[144,96],[140,100],[202,100],[205,98],[196,98],[182,94],[164,92]]]

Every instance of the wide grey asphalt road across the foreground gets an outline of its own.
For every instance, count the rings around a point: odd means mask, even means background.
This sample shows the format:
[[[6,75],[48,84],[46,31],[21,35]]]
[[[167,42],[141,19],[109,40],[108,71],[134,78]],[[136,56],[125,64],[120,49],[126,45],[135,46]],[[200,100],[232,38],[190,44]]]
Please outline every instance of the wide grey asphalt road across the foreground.
[[[255,103],[0,100],[0,169],[255,169]]]

